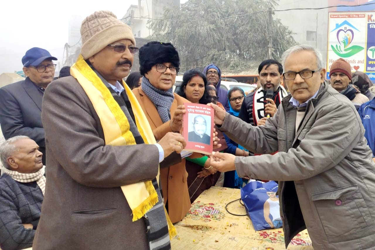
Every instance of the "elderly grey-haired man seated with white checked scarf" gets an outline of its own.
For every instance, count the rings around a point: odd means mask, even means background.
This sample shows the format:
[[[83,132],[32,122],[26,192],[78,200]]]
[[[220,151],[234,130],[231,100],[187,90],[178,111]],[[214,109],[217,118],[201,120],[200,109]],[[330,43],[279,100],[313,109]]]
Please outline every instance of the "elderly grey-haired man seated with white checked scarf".
[[[15,136],[0,146],[0,248],[31,247],[45,189],[45,166],[39,146],[27,136]]]

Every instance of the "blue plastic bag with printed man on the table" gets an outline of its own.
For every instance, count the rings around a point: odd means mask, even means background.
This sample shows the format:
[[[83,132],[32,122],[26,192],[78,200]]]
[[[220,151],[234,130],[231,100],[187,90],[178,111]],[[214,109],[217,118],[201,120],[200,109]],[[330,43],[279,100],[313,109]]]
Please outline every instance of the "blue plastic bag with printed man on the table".
[[[241,199],[255,231],[282,227],[278,187],[275,181],[251,181],[241,188]]]

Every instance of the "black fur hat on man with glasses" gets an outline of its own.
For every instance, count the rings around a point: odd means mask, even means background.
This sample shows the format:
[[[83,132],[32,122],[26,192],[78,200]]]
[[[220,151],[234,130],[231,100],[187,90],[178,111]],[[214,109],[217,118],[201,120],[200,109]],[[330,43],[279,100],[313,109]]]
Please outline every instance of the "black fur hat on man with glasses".
[[[151,70],[152,66],[158,63],[172,63],[175,67],[180,67],[180,57],[177,50],[171,43],[148,42],[139,49],[139,72],[141,75]]]

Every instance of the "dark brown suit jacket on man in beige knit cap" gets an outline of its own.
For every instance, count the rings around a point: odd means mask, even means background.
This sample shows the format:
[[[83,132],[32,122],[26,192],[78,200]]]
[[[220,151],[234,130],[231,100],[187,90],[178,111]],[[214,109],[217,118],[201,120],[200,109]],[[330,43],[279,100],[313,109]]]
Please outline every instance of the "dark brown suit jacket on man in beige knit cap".
[[[33,249],[148,249],[121,185],[157,175],[155,145],[106,146],[92,103],[73,77],[45,90],[46,190]],[[145,157],[147,152],[147,157]]]

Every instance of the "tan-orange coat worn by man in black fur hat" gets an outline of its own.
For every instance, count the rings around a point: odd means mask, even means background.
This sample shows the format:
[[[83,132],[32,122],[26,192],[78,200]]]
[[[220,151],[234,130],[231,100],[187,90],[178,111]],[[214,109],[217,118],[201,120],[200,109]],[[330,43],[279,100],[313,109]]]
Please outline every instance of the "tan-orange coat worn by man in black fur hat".
[[[155,139],[160,140],[166,133],[172,132],[169,126],[170,121],[163,123],[157,113],[157,109],[153,102],[142,91],[141,87],[133,89],[135,97],[141,104]],[[174,94],[174,101],[171,106],[171,117],[178,105],[189,102],[185,98]],[[180,221],[189,211],[191,203],[189,192],[187,191],[187,172],[185,168],[185,159],[171,167],[160,169],[160,177],[162,182],[162,190],[164,202],[168,201],[168,214],[172,223]]]

